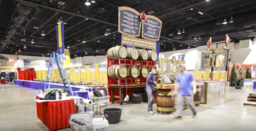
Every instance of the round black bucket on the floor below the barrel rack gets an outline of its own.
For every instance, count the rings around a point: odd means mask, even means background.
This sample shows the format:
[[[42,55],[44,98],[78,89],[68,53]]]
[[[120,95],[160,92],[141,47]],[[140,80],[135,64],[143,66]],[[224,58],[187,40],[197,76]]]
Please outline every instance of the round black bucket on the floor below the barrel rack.
[[[118,124],[120,122],[122,114],[121,108],[106,108],[103,112],[108,124]]]

